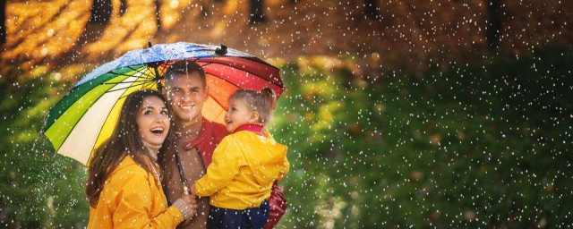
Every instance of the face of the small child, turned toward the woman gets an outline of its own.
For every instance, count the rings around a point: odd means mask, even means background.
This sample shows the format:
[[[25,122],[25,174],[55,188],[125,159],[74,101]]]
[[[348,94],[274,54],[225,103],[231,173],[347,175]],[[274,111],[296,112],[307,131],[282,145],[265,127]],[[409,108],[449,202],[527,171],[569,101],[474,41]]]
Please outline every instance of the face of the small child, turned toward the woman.
[[[237,127],[244,123],[254,123],[257,121],[258,114],[252,112],[243,99],[231,99],[227,106],[225,114],[225,124],[227,131],[233,132]]]

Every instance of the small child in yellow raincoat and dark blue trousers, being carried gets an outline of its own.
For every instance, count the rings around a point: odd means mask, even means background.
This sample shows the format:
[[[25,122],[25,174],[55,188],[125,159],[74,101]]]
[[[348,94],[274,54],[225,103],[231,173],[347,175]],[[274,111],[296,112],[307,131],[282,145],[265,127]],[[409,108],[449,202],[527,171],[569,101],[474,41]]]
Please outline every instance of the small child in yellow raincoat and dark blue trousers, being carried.
[[[288,172],[286,146],[262,128],[275,106],[271,89],[239,89],[225,114],[230,134],[218,144],[207,174],[192,194],[210,196],[207,228],[263,228],[269,219],[270,188]]]

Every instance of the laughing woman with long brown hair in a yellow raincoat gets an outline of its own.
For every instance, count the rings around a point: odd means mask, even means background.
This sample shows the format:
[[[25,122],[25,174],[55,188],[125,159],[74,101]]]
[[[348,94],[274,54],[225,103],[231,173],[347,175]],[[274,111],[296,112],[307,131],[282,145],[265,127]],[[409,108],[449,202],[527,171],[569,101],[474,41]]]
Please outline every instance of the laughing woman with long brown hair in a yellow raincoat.
[[[112,136],[90,161],[86,194],[88,228],[175,228],[192,217],[191,196],[167,208],[158,155],[175,146],[166,99],[140,90],[126,99]]]

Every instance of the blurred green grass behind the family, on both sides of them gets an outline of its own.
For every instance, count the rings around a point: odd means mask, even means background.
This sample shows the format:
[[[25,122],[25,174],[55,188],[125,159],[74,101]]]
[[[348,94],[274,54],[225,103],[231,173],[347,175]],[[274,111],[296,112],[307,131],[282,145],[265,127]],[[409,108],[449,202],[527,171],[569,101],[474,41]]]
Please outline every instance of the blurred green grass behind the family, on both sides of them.
[[[289,146],[281,228],[571,225],[573,50],[543,47],[428,70],[301,57],[271,132]],[[23,86],[22,86],[23,85]],[[0,83],[1,227],[87,224],[85,168],[40,129],[69,88]]]

